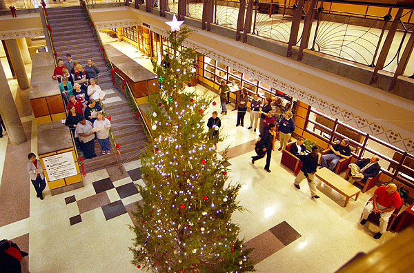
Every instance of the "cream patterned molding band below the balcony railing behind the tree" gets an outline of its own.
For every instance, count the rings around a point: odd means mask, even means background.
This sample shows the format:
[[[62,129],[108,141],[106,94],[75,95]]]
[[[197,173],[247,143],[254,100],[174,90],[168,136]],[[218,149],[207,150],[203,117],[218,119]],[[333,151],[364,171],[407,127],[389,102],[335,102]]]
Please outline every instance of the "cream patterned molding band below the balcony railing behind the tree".
[[[166,32],[166,30],[161,28],[153,28],[153,30],[164,37],[168,37],[168,32]],[[255,70],[251,65],[245,65],[235,61],[234,59],[225,57],[219,54],[217,50],[208,50],[207,48],[204,48],[203,45],[191,41],[190,39],[186,39],[183,44],[188,48],[193,48],[193,50],[210,57],[211,59],[248,74],[249,77],[263,81],[271,87],[284,92],[299,101],[303,101],[304,103],[317,108],[331,117],[335,117],[339,121],[343,121],[344,123],[351,125],[353,128],[362,130],[363,132],[366,132],[371,136],[375,136],[377,139],[381,139],[382,141],[386,141],[387,143],[390,143],[404,151],[411,153],[414,152],[413,138],[403,136],[399,132],[395,132],[395,130],[384,127],[384,125],[381,124],[381,121],[372,121],[370,119],[366,119],[365,117],[361,117],[359,114],[355,114],[347,109],[335,105],[334,103],[330,103],[329,101],[316,97],[314,94],[305,92],[294,85],[289,85],[288,83],[271,77],[262,71]]]

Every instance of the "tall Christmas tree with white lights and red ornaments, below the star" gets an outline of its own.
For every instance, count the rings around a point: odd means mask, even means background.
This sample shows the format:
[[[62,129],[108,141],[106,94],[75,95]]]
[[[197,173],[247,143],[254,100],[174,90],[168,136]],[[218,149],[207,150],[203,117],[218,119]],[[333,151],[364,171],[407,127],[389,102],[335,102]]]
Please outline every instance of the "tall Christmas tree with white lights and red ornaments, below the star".
[[[190,86],[196,56],[181,43],[190,30],[169,33],[170,54],[158,64],[157,92],[149,96],[152,138],[141,159],[146,188],[132,227],[132,263],[150,272],[250,272],[239,226],[230,220],[240,185],[229,185],[228,170],[206,131],[204,110],[212,99]],[[215,103],[213,103],[215,104]],[[215,130],[214,128],[212,130]]]

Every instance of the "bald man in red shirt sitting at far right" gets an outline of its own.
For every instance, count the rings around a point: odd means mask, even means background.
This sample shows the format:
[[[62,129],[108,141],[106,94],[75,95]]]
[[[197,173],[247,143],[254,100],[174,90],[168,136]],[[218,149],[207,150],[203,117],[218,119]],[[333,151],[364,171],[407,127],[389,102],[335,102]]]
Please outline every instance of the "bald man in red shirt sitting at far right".
[[[402,203],[400,194],[397,192],[397,185],[390,183],[383,185],[375,190],[372,201],[366,203],[362,210],[361,225],[365,225],[371,212],[380,214],[380,231],[374,235],[374,239],[380,239],[386,232],[388,220],[396,208],[400,208]]]

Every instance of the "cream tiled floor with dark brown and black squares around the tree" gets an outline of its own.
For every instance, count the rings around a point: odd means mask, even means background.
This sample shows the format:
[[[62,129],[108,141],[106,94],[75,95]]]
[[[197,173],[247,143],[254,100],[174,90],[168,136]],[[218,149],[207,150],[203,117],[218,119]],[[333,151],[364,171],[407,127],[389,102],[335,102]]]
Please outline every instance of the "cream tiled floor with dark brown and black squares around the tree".
[[[139,60],[135,48],[126,43],[117,46]],[[213,96],[201,85],[197,92]],[[206,118],[213,110],[219,110],[219,105],[210,106]],[[236,115],[229,111],[221,117],[221,134],[226,139],[217,145],[217,151],[230,147],[231,156],[225,163],[229,181],[242,184],[237,200],[246,208],[235,212],[233,221],[241,228],[245,247],[255,249],[252,258],[257,272],[335,272],[357,252],[368,252],[395,236],[386,232],[376,241],[372,235],[378,228],[358,223],[373,190],[344,208],[343,196],[320,181],[318,200],[310,198],[307,187],[296,190],[294,174],[280,165],[280,152],[272,154],[270,174],[263,170],[264,160],[252,165],[250,156],[259,133],[235,127]],[[37,152],[36,130],[32,125],[32,152]],[[0,146],[8,148],[4,139]],[[5,151],[0,150],[0,159],[6,158]],[[26,152],[20,155],[22,162],[25,156]],[[144,272],[130,264],[132,252],[128,250],[134,236],[128,225],[134,221],[135,204],[142,199],[134,184],[145,187],[141,161],[126,161],[123,167],[124,174],[115,168],[90,172],[83,178],[83,188],[64,194],[51,196],[46,188],[43,201],[35,197],[28,177],[23,179],[26,182],[21,187],[30,191],[30,213],[1,225],[0,239],[13,239],[23,250],[30,250],[30,272],[34,273]],[[3,177],[6,171],[1,173]]]

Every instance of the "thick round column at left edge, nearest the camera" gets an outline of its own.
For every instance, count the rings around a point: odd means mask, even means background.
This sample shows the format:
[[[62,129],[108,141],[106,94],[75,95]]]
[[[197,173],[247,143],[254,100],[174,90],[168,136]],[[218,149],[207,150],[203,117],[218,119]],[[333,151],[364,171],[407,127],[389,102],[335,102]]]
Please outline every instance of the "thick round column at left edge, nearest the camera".
[[[25,142],[26,134],[21,125],[19,112],[12,96],[12,91],[8,85],[6,74],[4,74],[3,65],[0,63],[0,113],[1,118],[6,125],[7,134],[12,144]]]

